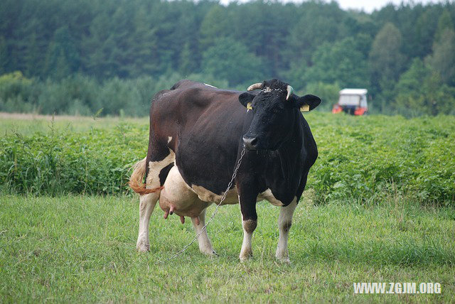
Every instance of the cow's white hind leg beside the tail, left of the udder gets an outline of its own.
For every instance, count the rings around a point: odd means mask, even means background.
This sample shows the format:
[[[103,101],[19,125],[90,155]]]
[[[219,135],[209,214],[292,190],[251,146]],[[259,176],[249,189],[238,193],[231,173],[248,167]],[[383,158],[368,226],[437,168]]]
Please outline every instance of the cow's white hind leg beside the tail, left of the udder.
[[[164,158],[162,161],[150,161],[149,162],[149,174],[147,175],[146,188],[154,189],[158,188],[159,183],[159,173],[170,163],[175,161],[176,155],[171,149],[169,149],[169,155]],[[139,234],[137,236],[136,248],[139,251],[148,251],[149,244],[149,222],[151,212],[154,211],[156,201],[159,198],[161,191],[156,191],[154,193],[149,193],[146,195],[139,196]]]

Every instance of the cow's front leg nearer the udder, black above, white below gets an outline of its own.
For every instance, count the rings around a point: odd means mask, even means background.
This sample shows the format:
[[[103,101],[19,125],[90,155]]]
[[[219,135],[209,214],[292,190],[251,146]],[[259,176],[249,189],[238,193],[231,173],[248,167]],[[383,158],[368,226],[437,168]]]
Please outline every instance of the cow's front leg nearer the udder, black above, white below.
[[[240,250],[240,261],[252,257],[251,239],[257,226],[256,213],[257,195],[252,193],[240,194],[240,210],[242,211],[243,243]]]

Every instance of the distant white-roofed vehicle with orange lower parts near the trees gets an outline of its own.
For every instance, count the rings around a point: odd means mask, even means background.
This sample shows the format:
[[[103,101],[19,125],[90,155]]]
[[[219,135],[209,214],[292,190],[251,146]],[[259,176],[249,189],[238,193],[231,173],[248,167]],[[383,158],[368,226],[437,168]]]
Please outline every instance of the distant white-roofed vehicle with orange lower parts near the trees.
[[[332,113],[346,112],[351,115],[364,115],[368,112],[367,89],[342,89]]]

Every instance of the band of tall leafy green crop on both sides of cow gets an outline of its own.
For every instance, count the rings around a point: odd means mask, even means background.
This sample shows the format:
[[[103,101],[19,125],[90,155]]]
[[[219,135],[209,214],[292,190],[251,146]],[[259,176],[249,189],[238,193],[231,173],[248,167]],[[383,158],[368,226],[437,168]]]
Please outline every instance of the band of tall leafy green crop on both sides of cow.
[[[306,118],[319,147],[307,188],[314,189],[318,202],[346,198],[381,202],[400,192],[432,205],[454,204],[453,116],[404,119],[315,112]],[[146,120],[119,121],[82,131],[49,124],[47,131],[8,131],[0,139],[0,187],[4,192],[127,192],[130,166],[146,155]],[[21,124],[21,128],[26,126]]]

